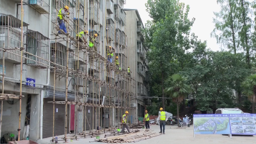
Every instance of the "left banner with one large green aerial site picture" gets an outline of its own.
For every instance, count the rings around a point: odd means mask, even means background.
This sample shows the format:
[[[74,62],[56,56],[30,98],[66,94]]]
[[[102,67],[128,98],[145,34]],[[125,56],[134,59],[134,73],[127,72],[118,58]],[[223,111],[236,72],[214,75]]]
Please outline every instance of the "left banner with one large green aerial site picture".
[[[195,134],[230,134],[228,115],[204,114],[193,115]]]

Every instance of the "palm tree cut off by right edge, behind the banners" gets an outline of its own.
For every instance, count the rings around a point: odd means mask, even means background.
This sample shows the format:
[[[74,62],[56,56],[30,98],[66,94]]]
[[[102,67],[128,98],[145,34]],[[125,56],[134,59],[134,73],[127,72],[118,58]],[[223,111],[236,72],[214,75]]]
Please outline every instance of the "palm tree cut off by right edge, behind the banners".
[[[248,99],[252,102],[252,113],[254,113],[255,94],[256,94],[256,74],[252,74],[244,79],[242,86],[243,93],[247,95]]]

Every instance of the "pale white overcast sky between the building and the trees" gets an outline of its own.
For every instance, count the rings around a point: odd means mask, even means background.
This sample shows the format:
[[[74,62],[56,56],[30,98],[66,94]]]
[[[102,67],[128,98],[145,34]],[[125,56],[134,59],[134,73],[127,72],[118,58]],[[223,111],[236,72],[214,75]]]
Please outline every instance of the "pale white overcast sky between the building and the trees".
[[[189,19],[195,17],[191,33],[195,33],[202,41],[206,40],[207,47],[212,51],[221,51],[216,39],[211,38],[211,32],[214,29],[214,23],[212,23],[213,12],[220,11],[220,6],[218,6],[216,0],[180,0],[180,2],[190,6]],[[146,11],[145,3],[147,3],[147,0],[127,0],[124,5],[124,8],[138,10],[144,26],[147,20],[151,19]]]

